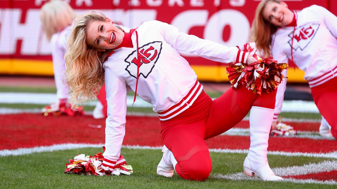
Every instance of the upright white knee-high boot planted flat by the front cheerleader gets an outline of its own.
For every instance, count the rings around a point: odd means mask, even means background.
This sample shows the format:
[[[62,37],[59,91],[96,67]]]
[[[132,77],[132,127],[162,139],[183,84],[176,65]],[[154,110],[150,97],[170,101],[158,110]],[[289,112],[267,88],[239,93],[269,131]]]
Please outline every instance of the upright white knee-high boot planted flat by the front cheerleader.
[[[267,148],[274,109],[252,106],[249,115],[250,147],[243,163],[246,175],[257,174],[264,181],[283,180],[275,176],[268,164]]]

